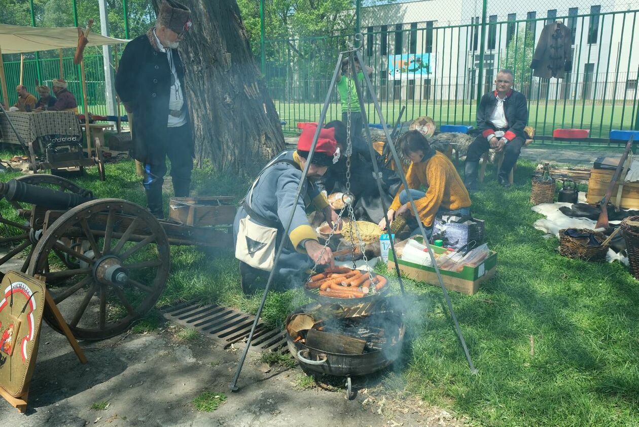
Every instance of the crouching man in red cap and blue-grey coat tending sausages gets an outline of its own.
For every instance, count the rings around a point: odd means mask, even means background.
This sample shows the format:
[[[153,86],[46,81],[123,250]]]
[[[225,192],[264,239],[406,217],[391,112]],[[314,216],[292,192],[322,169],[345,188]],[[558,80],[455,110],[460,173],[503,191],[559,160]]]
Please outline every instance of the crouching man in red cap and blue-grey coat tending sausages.
[[[309,172],[302,182],[302,193],[295,197],[316,129],[304,129],[297,150],[282,152],[263,168],[235,216],[235,257],[240,260],[242,290],[247,294],[265,287],[268,272],[273,268],[278,284],[295,286],[304,282],[307,270],[315,262],[334,264],[330,248],[322,251],[323,245],[306,214],[307,208],[314,204],[316,209],[323,211],[327,221],[338,218],[314,184],[333,165],[334,159],[339,158],[334,129],[321,129]],[[291,213],[293,222],[285,235]],[[281,239],[286,239],[286,243],[275,265],[275,252]]]

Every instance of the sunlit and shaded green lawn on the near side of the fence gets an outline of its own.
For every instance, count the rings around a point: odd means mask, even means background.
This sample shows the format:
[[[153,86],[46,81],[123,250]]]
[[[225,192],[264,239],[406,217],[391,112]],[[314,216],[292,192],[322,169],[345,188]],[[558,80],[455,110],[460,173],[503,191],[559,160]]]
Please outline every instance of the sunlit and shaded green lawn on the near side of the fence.
[[[637,282],[618,263],[558,255],[557,239],[544,239],[533,227],[540,218],[528,204],[534,165],[520,161],[519,166],[514,188],[500,188],[488,168],[484,189],[472,197],[473,214],[486,220],[489,247],[498,252],[497,275],[473,296],[450,293],[479,375],[470,374],[441,290],[404,280],[410,342],[404,363],[383,373],[380,384],[484,426],[639,425]],[[89,168],[79,182],[98,196],[143,204],[132,162],[107,165],[107,176],[100,182]],[[203,195],[239,196],[247,186],[206,168],[195,177]],[[0,200],[0,212],[8,211]],[[397,279],[390,282],[397,291]],[[157,306],[197,298],[255,313],[260,297],[240,290],[231,248],[172,246],[171,276]],[[271,292],[263,319],[281,327],[292,309],[308,301],[299,290]],[[307,387],[313,381],[298,383]]]

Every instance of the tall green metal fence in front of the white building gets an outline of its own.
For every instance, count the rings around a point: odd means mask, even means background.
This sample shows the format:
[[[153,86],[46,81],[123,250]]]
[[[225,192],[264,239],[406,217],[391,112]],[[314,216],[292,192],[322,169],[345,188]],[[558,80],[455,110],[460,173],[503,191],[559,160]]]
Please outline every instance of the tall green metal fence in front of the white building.
[[[573,30],[573,67],[564,79],[540,79],[530,69],[548,17],[489,20],[483,44],[479,19],[456,26],[362,23],[362,54],[373,68],[374,89],[389,122],[405,107],[403,120],[427,115],[438,125],[473,125],[477,93],[493,90],[498,70],[510,68],[514,88],[528,99],[529,124],[538,134],[578,128],[588,129],[591,137],[608,138],[614,129],[639,129],[639,51],[632,49],[635,36],[639,38],[637,12],[553,17],[552,22],[564,20]],[[318,119],[334,61],[346,40],[353,36],[265,40],[263,72],[286,131],[296,131],[297,122]],[[254,49],[262,56],[259,44]],[[420,58],[428,69],[415,74],[406,72],[410,64],[395,67],[408,58]],[[371,104],[367,111],[376,122]],[[335,91],[328,119],[340,117]]]

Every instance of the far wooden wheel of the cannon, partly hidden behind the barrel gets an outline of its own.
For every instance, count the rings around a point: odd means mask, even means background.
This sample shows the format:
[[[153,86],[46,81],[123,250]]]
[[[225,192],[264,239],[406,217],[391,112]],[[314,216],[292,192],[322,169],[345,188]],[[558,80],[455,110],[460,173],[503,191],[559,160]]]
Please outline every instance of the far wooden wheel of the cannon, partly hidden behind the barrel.
[[[57,191],[68,191],[75,194],[87,191],[67,179],[54,175],[23,175],[22,177],[16,178],[16,181],[35,186],[45,186]],[[2,198],[0,195],[0,204],[2,203]],[[0,230],[3,231],[0,234],[0,236],[3,236],[0,237],[0,245],[11,246],[11,249],[0,258],[0,266],[13,257],[20,255],[23,251],[28,250],[29,254],[24,260],[22,268],[20,268],[22,273],[26,273],[29,267],[29,261],[31,261],[31,256],[33,255],[33,248],[35,248],[38,239],[42,236],[42,220],[44,217],[42,215],[31,218],[31,214],[33,213],[33,205],[31,204],[17,202],[15,200],[12,202],[7,201],[7,203],[15,209],[15,212],[7,216],[0,214]],[[62,262],[68,264],[68,266],[72,266],[68,262],[68,257],[65,257],[59,252],[57,255]]]

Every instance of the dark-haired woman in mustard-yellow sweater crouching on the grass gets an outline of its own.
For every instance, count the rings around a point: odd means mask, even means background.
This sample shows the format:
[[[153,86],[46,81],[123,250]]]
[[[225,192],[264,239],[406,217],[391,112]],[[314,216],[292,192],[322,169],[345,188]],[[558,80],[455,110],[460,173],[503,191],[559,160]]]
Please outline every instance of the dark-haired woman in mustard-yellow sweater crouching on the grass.
[[[412,163],[406,172],[408,190],[400,188],[390,205],[388,212],[390,222],[392,223],[397,216],[412,218],[413,211],[410,207],[408,191],[415,200],[419,220],[424,224],[428,238],[433,229],[435,216],[469,215],[470,196],[448,157],[433,149],[419,131],[409,131],[404,134],[400,145]],[[425,193],[420,191],[422,186],[427,188]],[[410,224],[410,219],[407,222]],[[420,234],[414,218],[413,223],[415,229],[411,232],[411,236]],[[386,228],[385,218],[380,221],[380,227]]]

